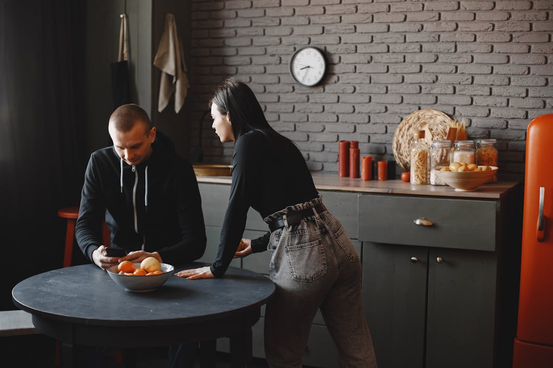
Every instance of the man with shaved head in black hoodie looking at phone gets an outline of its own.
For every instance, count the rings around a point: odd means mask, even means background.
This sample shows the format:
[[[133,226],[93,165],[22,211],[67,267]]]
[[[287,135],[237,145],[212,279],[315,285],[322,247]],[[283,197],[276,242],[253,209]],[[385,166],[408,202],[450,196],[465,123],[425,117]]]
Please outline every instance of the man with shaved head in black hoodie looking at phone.
[[[179,265],[200,258],[206,248],[200,190],[192,165],[175,153],[173,142],[156,131],[138,105],[119,106],[109,118],[113,146],[90,156],[82,187],[75,236],[82,252],[107,269],[123,260]],[[107,257],[101,223],[111,247],[128,253]],[[197,344],[171,346],[171,366],[187,366]],[[132,351],[126,364],[134,365]]]

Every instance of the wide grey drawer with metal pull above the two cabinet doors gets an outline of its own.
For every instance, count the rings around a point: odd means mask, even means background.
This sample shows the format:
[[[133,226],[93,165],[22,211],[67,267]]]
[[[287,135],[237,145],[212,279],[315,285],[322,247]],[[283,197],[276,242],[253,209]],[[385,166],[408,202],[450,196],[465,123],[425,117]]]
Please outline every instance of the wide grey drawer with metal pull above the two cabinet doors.
[[[434,221],[416,225],[417,218]],[[495,250],[495,201],[359,195],[359,241]]]

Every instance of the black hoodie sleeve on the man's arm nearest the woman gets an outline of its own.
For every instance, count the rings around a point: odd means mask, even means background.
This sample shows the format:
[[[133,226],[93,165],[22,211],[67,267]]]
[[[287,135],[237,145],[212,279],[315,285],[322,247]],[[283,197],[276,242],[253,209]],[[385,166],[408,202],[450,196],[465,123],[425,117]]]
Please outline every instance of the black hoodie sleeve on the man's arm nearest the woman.
[[[207,242],[200,189],[189,162],[183,163],[178,179],[175,200],[181,240],[159,250],[163,262],[170,264],[192,262],[202,257]]]

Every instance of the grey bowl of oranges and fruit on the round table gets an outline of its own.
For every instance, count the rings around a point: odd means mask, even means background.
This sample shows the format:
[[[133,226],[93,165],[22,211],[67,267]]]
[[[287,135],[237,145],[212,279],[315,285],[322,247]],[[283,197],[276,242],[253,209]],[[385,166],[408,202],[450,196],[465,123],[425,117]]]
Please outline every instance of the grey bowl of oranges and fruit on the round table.
[[[160,263],[154,257],[145,258],[140,263],[125,260],[107,269],[109,277],[127,291],[152,291],[165,284],[175,271],[174,266]]]

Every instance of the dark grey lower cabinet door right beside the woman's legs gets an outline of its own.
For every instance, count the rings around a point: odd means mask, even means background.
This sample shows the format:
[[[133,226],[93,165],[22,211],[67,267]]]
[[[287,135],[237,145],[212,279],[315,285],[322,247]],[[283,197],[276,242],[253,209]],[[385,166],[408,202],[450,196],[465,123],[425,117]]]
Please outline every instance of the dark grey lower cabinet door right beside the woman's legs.
[[[379,368],[424,366],[427,267],[428,248],[363,242],[363,307]]]

